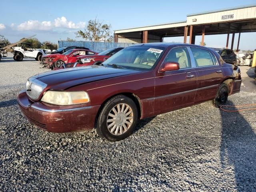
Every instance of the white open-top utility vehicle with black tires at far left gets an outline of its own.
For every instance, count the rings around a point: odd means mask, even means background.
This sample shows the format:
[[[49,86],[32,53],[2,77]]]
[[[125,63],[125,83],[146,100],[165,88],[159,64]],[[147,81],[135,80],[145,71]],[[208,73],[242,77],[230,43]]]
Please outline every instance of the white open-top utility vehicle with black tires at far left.
[[[31,47],[30,43],[21,43],[21,47],[12,47],[13,59],[16,61],[22,61],[23,58],[35,58],[37,61],[41,61],[42,55],[46,52],[43,49],[25,48],[25,45]]]

